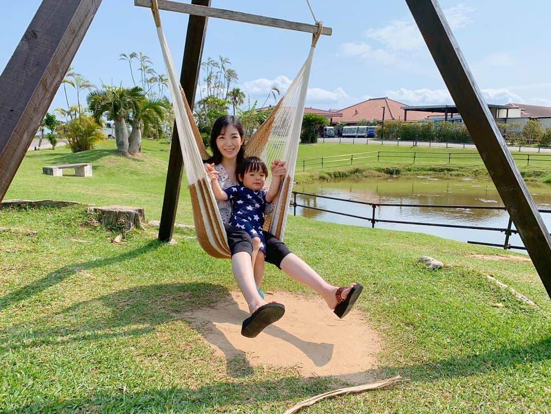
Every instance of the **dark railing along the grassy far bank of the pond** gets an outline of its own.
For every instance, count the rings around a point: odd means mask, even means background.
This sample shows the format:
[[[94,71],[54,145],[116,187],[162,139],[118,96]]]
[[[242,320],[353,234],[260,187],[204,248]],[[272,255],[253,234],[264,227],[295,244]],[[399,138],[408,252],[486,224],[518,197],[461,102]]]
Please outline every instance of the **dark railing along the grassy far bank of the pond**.
[[[368,155],[369,154],[369,155]],[[512,158],[515,161],[522,162],[526,161],[526,166],[530,166],[530,161],[551,161],[551,154],[511,154]],[[361,160],[371,160],[371,161],[380,161],[381,158],[404,158],[412,161],[412,164],[415,164],[415,161],[420,159],[433,159],[433,160],[443,160],[446,164],[451,164],[452,160],[468,160],[476,159],[482,162],[478,154],[462,154],[461,152],[419,152],[419,151],[404,151],[404,152],[393,152],[393,151],[369,151],[369,152],[357,152],[355,154],[344,154],[344,155],[329,155],[317,158],[311,158],[307,160],[298,160],[296,161],[296,169],[306,171],[306,168],[312,167],[312,169],[317,168],[330,168],[330,167],[342,167],[345,165],[360,165],[365,164],[366,161],[359,162]],[[336,163],[341,163],[336,165]],[[350,164],[348,164],[350,163]]]

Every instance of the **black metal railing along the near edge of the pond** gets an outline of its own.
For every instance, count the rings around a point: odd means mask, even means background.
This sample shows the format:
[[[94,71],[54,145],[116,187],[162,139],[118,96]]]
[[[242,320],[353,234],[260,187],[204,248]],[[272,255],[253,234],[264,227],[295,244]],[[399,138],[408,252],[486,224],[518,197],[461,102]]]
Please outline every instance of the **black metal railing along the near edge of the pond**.
[[[309,205],[303,205],[303,204],[297,204],[296,203],[296,195],[308,195],[310,197],[316,197],[316,198],[324,198],[329,200],[337,200],[337,201],[344,201],[345,203],[353,203],[353,204],[363,204],[363,205],[369,205],[372,208],[372,214],[371,217],[365,217],[365,216],[359,216],[355,214],[348,214],[348,213],[342,213],[340,211],[333,211],[333,210],[327,210],[327,209],[321,209],[318,207],[312,207]],[[408,224],[408,225],[416,225],[416,226],[432,226],[432,227],[449,227],[449,228],[467,228],[470,230],[486,230],[486,231],[499,231],[501,233],[505,233],[505,241],[503,244],[498,243],[485,243],[485,242],[474,242],[474,241],[467,241],[467,243],[471,244],[482,244],[484,246],[494,246],[494,247],[502,247],[504,249],[521,249],[526,250],[526,247],[524,246],[512,246],[509,244],[509,238],[512,234],[518,234],[518,231],[512,228],[512,220],[511,217],[509,217],[509,221],[506,228],[501,227],[484,227],[484,226],[467,226],[467,225],[457,225],[457,224],[446,224],[446,223],[429,223],[429,222],[419,222],[419,221],[404,221],[404,220],[383,220],[383,219],[376,219],[375,218],[375,209],[377,207],[417,207],[417,208],[439,208],[439,209],[476,209],[476,210],[505,210],[506,208],[503,206],[483,206],[483,205],[439,205],[439,204],[400,204],[400,203],[369,203],[368,201],[357,201],[357,200],[347,200],[343,198],[337,198],[337,197],[329,197],[328,195],[319,195],[319,194],[311,194],[311,193],[302,193],[298,191],[293,191],[293,202],[291,203],[293,206],[293,215],[296,216],[296,208],[301,207],[304,209],[311,209],[311,210],[317,210],[317,211],[324,211],[325,213],[332,213],[332,214],[338,214],[341,216],[347,216],[347,217],[353,217],[355,219],[361,219],[361,220],[368,220],[371,222],[371,227],[375,227],[375,223],[393,223],[393,224]],[[551,210],[547,209],[538,209],[540,213],[551,213]]]

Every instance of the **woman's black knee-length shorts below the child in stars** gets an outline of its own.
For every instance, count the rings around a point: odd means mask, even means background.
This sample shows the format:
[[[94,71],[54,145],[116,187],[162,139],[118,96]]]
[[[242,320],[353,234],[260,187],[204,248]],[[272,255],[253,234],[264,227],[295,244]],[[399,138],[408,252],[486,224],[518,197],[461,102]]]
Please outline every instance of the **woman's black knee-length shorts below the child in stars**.
[[[252,239],[244,230],[229,224],[224,223],[226,229],[226,235],[228,236],[228,244],[230,246],[230,252],[233,256],[235,253],[247,252],[252,255]],[[266,262],[272,263],[280,268],[281,261],[285,256],[291,253],[291,250],[285,243],[280,241],[272,233],[263,231],[264,238],[266,239]]]

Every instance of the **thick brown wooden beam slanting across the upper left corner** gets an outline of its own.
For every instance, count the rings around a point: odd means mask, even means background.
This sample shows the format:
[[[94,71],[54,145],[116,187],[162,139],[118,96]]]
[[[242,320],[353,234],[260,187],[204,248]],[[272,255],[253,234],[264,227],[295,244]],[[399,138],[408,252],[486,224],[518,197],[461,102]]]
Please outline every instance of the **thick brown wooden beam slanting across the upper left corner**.
[[[101,0],[43,0],[0,75],[0,201]]]

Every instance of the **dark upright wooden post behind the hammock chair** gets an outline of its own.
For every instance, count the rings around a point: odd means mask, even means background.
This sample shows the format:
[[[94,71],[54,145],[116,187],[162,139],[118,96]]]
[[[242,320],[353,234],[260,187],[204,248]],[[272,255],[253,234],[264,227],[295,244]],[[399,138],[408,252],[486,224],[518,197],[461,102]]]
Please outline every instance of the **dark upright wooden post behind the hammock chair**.
[[[210,6],[210,0],[192,1],[193,4]],[[187,24],[186,46],[183,51],[180,84],[182,85],[182,89],[186,94],[187,101],[190,103],[190,108],[192,110],[193,102],[195,102],[199,70],[201,69],[201,57],[203,55],[203,45],[207,32],[207,20],[206,17],[190,15],[190,20]],[[174,230],[174,221],[176,220],[178,199],[180,197],[182,172],[182,150],[176,123],[174,123],[174,128],[172,129],[172,143],[170,145],[169,166],[166,172],[163,210],[161,211],[159,224],[159,240],[163,242],[169,242],[172,239],[172,230]]]

